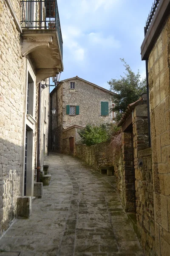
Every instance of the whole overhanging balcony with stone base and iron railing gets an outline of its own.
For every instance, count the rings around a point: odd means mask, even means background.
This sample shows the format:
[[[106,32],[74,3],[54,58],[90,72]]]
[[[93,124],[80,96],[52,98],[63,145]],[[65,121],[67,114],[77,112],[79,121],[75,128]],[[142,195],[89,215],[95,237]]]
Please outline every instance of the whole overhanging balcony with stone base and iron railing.
[[[62,33],[57,0],[21,3],[22,55],[35,65],[37,82],[63,71]]]

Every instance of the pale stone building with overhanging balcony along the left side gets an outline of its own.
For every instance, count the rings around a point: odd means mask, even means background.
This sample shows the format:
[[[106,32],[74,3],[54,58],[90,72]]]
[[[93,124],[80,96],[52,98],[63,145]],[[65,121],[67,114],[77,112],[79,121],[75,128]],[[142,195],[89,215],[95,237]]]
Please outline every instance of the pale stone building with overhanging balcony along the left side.
[[[53,6],[53,7],[49,7]],[[54,23],[54,29],[48,23]],[[0,1],[0,234],[17,213],[17,200],[34,195],[38,102],[48,127],[48,89],[41,81],[63,70],[57,1]],[[44,83],[44,82],[43,82]],[[39,88],[39,93],[38,93]],[[39,96],[38,96],[39,95]],[[46,117],[45,115],[46,108]],[[46,138],[45,148],[46,152]],[[45,153],[46,154],[46,153]],[[41,168],[41,157],[40,157]]]

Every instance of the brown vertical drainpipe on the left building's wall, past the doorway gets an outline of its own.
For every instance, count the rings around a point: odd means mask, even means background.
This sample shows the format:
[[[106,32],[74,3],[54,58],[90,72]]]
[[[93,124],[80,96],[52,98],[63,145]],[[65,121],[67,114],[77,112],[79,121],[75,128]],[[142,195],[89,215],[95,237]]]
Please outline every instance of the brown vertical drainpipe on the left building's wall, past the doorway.
[[[37,130],[37,182],[40,182],[40,139],[41,139],[41,82],[38,84],[38,130]]]

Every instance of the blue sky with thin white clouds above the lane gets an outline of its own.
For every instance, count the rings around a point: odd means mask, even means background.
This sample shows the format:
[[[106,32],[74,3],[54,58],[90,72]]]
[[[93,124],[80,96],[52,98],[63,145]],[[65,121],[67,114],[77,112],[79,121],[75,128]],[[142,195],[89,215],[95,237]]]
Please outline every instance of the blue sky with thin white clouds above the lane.
[[[119,79],[124,58],[133,72],[145,76],[140,47],[153,0],[57,0],[63,39],[64,72],[109,90]]]

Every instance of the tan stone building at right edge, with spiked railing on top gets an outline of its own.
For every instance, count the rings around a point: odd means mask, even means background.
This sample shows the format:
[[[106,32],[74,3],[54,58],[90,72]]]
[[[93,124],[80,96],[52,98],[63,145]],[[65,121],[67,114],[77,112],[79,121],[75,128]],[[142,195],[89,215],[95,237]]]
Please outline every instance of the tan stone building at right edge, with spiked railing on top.
[[[170,0],[157,0],[145,28],[156,256],[170,254]],[[148,219],[151,227],[151,220]],[[146,219],[147,222],[147,219]]]

